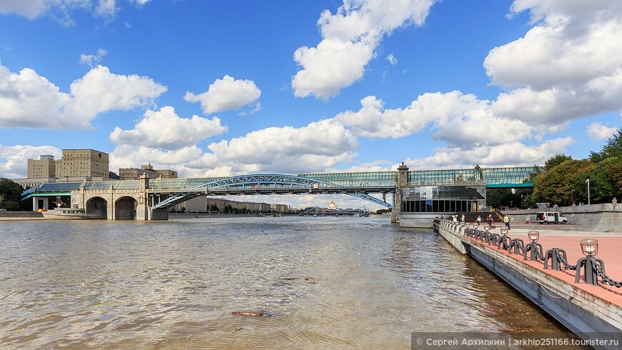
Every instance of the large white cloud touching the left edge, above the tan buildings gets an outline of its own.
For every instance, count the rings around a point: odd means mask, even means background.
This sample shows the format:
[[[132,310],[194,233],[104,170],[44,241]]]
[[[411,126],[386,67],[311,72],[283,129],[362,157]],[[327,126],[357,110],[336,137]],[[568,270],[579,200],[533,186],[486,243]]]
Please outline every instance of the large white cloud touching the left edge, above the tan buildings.
[[[97,66],[61,92],[33,69],[0,65],[0,128],[88,129],[97,114],[153,104],[167,91],[146,76],[112,74]]]

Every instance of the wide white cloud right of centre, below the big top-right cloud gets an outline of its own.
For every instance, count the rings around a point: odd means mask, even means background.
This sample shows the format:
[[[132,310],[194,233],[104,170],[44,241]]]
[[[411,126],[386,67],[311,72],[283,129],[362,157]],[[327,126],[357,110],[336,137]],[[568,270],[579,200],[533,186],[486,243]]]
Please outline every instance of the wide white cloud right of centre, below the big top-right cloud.
[[[425,93],[403,109],[385,109],[382,100],[367,96],[359,111],[345,111],[335,119],[372,139],[410,136],[431,126],[435,139],[465,148],[518,141],[531,131],[521,121],[495,117],[489,101],[460,91]]]

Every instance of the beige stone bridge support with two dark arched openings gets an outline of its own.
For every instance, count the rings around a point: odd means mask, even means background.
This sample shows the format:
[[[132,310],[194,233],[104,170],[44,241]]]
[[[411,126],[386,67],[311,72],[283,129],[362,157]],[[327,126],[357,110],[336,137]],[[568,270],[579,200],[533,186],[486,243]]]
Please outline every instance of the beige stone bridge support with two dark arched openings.
[[[86,214],[106,214],[108,220],[167,220],[167,208],[152,210],[149,206],[149,179],[139,179],[139,189],[107,189],[87,191],[84,186],[71,191],[71,208],[84,209]]]

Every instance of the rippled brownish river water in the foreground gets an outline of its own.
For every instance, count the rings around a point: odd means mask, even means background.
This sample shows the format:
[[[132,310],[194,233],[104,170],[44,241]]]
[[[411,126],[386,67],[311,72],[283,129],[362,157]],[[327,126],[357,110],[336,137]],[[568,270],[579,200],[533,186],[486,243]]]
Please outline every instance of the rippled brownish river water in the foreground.
[[[434,231],[388,221],[3,221],[0,347],[409,349],[412,331],[564,331]]]

